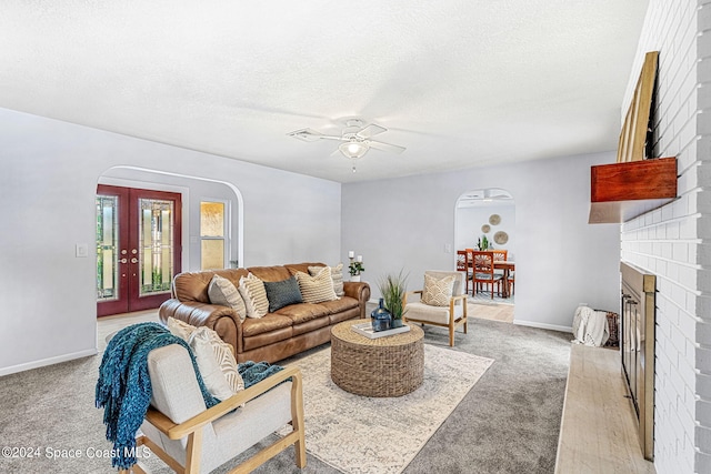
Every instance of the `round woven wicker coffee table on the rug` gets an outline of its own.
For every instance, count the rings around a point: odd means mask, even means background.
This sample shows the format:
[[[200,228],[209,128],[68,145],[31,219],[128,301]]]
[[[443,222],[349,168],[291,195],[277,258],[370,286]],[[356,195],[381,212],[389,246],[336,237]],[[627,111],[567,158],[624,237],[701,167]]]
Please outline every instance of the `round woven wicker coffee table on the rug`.
[[[368,339],[351,329],[365,322],[344,321],[331,330],[333,383],[364,396],[402,396],[422,385],[424,332],[410,324],[409,332]]]

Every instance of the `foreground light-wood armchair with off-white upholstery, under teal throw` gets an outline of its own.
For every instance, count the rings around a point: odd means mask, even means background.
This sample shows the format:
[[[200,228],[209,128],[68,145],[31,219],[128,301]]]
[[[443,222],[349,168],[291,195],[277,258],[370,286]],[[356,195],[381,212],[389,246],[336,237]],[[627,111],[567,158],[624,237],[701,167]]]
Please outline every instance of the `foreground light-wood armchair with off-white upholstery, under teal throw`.
[[[213,471],[289,423],[291,433],[230,473],[251,472],[292,444],[297,466],[306,466],[302,379],[298,367],[283,369],[206,409],[184,347],[171,344],[156,349],[150,352],[148,364],[153,394],[137,445],[148,446],[177,473]],[[131,472],[144,473],[139,464]]]

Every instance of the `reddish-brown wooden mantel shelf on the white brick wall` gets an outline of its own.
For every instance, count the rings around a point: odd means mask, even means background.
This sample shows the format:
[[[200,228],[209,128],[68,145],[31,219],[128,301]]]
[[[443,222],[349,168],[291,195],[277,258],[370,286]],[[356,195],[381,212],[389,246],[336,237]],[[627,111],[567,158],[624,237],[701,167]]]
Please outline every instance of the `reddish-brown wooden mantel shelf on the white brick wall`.
[[[677,198],[677,158],[591,167],[588,223],[619,223]]]

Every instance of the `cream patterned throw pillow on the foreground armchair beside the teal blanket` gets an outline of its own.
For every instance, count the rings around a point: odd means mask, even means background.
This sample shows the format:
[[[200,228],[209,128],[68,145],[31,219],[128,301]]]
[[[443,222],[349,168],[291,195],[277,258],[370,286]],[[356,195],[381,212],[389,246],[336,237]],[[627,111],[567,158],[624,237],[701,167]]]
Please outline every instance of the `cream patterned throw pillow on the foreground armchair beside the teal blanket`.
[[[190,345],[198,370],[208,392],[219,400],[227,400],[244,390],[232,349],[210,327],[196,327],[174,317],[168,319],[168,330]]]

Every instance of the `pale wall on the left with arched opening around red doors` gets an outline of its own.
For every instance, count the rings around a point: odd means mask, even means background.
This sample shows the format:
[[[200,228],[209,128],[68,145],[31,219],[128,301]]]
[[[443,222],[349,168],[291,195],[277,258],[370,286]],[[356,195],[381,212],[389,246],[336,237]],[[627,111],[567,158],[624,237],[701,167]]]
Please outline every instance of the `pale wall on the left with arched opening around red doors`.
[[[74,246],[117,165],[236,185],[246,266],[338,259],[338,183],[0,109],[0,375],[96,352],[96,256]]]

